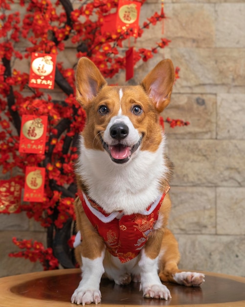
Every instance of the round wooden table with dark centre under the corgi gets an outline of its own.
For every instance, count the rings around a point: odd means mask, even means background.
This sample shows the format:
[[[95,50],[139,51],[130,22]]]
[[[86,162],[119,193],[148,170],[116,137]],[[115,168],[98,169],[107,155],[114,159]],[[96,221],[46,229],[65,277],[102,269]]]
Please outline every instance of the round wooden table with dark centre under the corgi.
[[[119,286],[104,279],[99,306],[245,307],[245,278],[203,273],[200,288],[165,283],[172,295],[169,301],[143,298],[139,283]],[[70,297],[80,277],[80,269],[67,269],[0,278],[0,307],[74,307]]]

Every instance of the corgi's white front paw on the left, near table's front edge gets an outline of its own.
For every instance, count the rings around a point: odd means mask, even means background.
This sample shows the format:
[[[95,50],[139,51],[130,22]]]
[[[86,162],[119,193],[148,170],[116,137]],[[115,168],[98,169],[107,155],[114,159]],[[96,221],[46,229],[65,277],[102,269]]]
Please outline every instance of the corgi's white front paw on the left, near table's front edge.
[[[77,305],[82,304],[98,304],[101,302],[101,293],[100,290],[84,290],[83,288],[77,288],[71,297],[71,303]]]

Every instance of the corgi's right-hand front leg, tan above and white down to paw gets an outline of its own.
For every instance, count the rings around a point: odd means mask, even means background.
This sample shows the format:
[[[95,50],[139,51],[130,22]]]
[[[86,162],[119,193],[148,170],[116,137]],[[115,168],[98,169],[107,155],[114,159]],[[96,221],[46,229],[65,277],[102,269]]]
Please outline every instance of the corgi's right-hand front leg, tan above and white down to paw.
[[[146,298],[171,299],[168,288],[158,276],[158,257],[163,230],[155,230],[141,251],[139,260],[141,288]]]

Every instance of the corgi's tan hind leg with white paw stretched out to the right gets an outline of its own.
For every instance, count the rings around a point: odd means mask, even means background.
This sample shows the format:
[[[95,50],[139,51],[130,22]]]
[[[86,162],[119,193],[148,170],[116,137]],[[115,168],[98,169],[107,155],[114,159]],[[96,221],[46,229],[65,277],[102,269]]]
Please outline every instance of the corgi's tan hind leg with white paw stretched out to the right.
[[[204,282],[204,275],[195,272],[184,272],[178,269],[180,259],[178,242],[173,233],[166,229],[162,240],[164,254],[159,260],[159,277],[161,281],[170,281],[185,286],[200,286]]]

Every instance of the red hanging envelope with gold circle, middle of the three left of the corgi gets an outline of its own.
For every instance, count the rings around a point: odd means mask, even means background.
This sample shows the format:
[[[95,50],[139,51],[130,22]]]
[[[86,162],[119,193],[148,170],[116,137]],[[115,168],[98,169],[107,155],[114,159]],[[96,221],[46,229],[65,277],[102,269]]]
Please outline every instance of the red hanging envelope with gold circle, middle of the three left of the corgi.
[[[47,116],[23,115],[20,153],[45,153]]]

